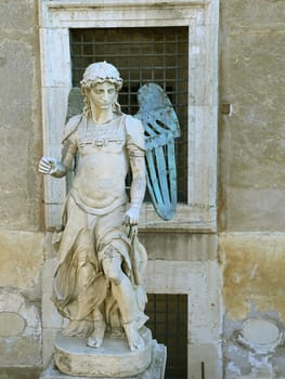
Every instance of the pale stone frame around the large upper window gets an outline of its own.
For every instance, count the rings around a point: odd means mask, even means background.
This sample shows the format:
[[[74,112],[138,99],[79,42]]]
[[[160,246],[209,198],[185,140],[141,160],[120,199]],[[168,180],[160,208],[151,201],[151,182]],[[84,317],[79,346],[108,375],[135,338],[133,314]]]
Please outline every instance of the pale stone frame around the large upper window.
[[[131,26],[189,27],[189,200],[171,221],[144,204],[140,227],[216,232],[219,0],[39,0],[43,154],[61,151],[72,88],[69,28]],[[48,230],[61,224],[65,195],[64,179],[44,177]]]

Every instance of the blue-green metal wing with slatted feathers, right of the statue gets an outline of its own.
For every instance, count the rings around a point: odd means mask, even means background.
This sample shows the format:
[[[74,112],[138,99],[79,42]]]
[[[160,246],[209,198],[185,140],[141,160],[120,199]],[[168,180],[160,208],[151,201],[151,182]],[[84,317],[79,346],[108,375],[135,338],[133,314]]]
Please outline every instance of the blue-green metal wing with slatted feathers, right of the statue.
[[[140,110],[134,117],[145,130],[147,190],[157,214],[171,220],[177,209],[174,139],[180,136],[179,120],[167,94],[156,83],[141,87],[138,100]]]

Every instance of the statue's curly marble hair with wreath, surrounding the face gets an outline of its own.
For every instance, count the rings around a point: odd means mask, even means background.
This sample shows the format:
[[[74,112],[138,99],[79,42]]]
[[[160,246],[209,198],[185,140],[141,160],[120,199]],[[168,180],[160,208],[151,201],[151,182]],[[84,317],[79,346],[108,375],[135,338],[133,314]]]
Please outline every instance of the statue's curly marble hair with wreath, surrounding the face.
[[[80,81],[81,93],[83,95],[85,107],[83,114],[86,116],[90,115],[90,101],[89,101],[89,91],[92,87],[98,83],[103,83],[108,81],[115,86],[116,92],[118,93],[122,86],[122,79],[120,74],[115,66],[107,62],[96,62],[89,65],[83,74],[83,78]],[[116,101],[113,105],[113,110],[120,114],[120,105]]]

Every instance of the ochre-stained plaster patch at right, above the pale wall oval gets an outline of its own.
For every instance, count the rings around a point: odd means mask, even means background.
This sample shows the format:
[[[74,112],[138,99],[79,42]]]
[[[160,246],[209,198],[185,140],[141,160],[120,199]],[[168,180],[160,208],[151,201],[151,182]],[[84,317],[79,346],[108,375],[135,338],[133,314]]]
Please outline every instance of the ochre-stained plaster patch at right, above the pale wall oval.
[[[220,235],[223,265],[223,304],[228,316],[243,319],[252,306],[274,310],[285,318],[285,235],[224,233]]]

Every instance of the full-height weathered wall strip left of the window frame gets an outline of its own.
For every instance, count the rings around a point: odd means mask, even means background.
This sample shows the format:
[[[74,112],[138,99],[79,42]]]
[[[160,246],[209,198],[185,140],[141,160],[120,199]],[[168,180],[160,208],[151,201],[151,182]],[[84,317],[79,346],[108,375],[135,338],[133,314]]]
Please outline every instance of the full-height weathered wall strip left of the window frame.
[[[37,1],[0,8],[0,377],[36,378],[43,258]]]

